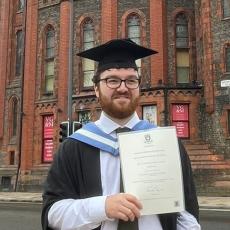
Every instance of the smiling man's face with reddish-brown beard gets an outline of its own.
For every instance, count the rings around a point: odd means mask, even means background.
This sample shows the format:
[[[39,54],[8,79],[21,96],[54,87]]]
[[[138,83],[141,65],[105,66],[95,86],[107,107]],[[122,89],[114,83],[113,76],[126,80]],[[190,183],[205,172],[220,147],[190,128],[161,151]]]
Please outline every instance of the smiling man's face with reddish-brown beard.
[[[138,73],[133,68],[127,69],[108,69],[101,73],[100,79],[138,79]],[[105,80],[97,83],[95,86],[96,96],[100,100],[102,110],[110,117],[124,119],[133,114],[136,110],[139,100],[139,87],[129,89],[125,82],[121,82],[120,87],[111,89]]]

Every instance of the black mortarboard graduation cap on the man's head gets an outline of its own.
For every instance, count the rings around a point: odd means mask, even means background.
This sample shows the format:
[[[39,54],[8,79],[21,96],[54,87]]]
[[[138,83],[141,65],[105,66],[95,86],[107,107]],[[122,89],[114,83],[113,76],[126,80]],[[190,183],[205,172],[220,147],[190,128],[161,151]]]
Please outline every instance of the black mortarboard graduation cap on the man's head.
[[[156,54],[155,50],[140,46],[131,39],[114,39],[77,55],[98,62],[97,72],[110,68],[137,69],[137,59]]]

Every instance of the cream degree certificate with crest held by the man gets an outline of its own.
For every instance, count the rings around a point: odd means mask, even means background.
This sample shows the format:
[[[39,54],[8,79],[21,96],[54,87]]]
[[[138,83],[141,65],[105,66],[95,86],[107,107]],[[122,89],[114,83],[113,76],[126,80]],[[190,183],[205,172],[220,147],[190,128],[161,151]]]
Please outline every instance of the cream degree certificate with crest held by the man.
[[[142,202],[142,215],[181,212],[184,193],[175,127],[118,134],[124,191]]]

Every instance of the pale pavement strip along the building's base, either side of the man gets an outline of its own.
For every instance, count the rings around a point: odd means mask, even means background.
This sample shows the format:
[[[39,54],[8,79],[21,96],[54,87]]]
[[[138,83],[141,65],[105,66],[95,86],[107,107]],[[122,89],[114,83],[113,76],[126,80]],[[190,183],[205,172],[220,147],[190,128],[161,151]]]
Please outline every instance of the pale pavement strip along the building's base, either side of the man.
[[[230,211],[230,197],[198,197],[200,209],[224,209]],[[0,192],[0,202],[42,203],[41,193]]]

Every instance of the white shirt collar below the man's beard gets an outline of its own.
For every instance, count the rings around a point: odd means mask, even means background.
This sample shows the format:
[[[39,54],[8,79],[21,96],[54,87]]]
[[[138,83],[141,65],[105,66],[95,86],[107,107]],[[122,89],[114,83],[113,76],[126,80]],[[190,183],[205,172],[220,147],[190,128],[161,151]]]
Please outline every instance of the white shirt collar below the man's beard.
[[[135,112],[132,118],[124,125],[127,128],[132,129],[140,121],[137,113]],[[114,130],[121,127],[119,124],[111,120],[106,114],[102,111],[99,120],[95,124],[105,133],[111,134]]]

